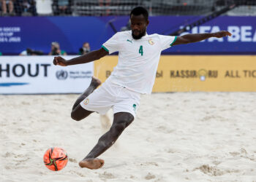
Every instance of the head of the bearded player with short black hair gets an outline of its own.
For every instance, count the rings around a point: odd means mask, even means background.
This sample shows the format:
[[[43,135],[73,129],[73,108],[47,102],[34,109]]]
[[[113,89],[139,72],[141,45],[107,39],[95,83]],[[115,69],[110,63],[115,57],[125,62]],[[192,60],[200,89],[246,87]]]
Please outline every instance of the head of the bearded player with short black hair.
[[[143,7],[135,7],[129,14],[131,20],[132,37],[133,39],[140,39],[146,35],[146,28],[148,26],[148,11]]]

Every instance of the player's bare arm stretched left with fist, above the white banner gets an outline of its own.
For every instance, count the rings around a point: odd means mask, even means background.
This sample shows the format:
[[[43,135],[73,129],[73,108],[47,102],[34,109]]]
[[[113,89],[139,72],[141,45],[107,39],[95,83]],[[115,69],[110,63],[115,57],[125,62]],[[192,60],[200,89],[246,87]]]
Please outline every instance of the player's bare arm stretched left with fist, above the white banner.
[[[54,57],[53,64],[59,66],[69,66],[69,65],[78,65],[83,63],[89,63],[94,60],[99,60],[100,58],[108,55],[108,51],[100,48],[99,50],[94,50],[92,52],[87,53],[86,55],[81,55],[77,58],[72,58],[71,60],[65,60],[60,56]]]

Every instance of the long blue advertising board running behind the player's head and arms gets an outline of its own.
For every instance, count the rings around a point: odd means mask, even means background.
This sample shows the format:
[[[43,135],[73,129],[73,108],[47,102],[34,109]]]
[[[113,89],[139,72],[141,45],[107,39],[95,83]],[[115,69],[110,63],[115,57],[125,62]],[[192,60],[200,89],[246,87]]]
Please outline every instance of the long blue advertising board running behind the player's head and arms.
[[[157,16],[149,18],[147,32],[169,35],[198,16]],[[127,25],[129,17],[0,17],[0,52],[18,55],[26,48],[50,52],[50,43],[58,41],[61,50],[78,54],[83,42],[91,50],[107,41],[115,31]],[[187,33],[227,30],[233,36],[207,39],[195,44],[178,45],[165,54],[256,54],[256,17],[221,16]]]

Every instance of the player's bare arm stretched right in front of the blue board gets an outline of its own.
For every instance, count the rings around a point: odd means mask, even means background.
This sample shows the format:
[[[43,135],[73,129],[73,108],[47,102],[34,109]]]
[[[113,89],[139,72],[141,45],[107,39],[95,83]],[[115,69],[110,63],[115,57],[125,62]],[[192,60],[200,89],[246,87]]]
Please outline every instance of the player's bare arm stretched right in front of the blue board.
[[[215,33],[192,33],[186,34],[184,36],[178,36],[173,45],[178,44],[189,44],[197,41],[203,41],[211,37],[222,38],[223,36],[231,36],[231,33],[228,31],[218,31]]]

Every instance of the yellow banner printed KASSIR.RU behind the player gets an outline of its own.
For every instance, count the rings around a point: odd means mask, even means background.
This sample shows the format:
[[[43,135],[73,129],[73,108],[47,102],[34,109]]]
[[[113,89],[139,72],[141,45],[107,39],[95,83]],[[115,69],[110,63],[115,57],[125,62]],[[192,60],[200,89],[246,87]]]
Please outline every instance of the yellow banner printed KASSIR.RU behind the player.
[[[117,56],[94,62],[94,75],[103,82]],[[255,92],[256,56],[162,55],[153,92]]]

